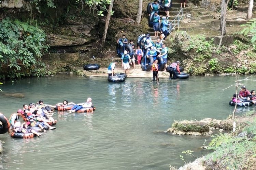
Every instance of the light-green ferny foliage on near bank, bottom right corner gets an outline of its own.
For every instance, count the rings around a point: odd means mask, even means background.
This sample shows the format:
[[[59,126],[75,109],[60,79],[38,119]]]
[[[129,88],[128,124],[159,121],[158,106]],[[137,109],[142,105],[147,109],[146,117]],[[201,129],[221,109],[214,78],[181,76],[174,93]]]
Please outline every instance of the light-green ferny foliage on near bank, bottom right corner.
[[[232,138],[228,134],[215,135],[208,149],[215,151],[205,158],[223,169],[243,169],[250,164],[248,154],[250,157],[256,153],[255,142],[248,141],[246,136]]]

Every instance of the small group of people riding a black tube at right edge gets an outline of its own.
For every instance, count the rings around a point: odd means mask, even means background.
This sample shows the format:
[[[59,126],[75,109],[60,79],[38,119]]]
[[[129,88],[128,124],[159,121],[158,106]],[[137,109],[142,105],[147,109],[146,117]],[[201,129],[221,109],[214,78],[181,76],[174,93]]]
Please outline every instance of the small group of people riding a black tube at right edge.
[[[237,95],[237,94],[233,95],[232,102],[234,102],[234,103],[249,102],[249,103],[252,103],[252,104],[256,104],[255,90],[249,91],[243,85],[241,87],[241,90],[239,91],[239,95]]]

